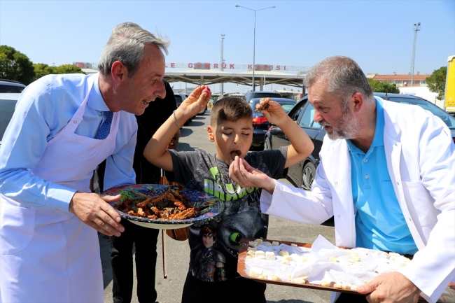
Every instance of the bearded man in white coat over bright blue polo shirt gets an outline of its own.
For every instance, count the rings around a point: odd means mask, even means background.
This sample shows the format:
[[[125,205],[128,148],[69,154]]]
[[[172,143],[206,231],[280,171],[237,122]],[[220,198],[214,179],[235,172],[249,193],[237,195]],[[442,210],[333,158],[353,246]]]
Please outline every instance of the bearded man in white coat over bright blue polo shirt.
[[[305,79],[314,121],[327,135],[311,191],[273,180],[244,160],[242,187],[261,187],[261,209],[302,223],[335,220],[337,246],[414,255],[399,272],[357,288],[368,302],[436,302],[455,278],[455,153],[446,125],[419,106],[375,99],[356,62],[329,57]],[[332,294],[332,302],[361,297]],[[363,299],[363,300],[365,300]]]

